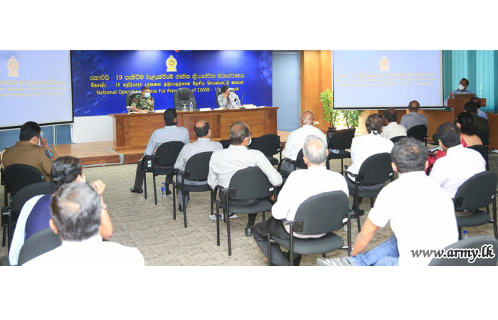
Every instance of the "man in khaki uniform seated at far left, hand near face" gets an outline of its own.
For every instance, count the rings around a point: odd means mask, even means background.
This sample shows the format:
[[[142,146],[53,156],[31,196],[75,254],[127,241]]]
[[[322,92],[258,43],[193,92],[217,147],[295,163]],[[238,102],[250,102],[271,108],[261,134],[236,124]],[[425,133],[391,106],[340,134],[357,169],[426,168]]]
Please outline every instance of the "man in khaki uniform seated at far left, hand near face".
[[[43,138],[41,127],[28,121],[21,127],[19,142],[4,149],[0,156],[1,166],[6,168],[11,164],[26,164],[38,169],[46,181],[50,181],[53,155],[47,139]]]

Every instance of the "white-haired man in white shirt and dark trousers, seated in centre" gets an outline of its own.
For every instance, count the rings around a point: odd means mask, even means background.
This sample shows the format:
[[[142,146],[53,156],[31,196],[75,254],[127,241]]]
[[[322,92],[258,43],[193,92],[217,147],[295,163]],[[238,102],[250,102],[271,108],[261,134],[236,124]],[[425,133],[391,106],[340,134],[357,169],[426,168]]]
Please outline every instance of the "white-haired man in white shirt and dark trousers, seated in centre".
[[[290,228],[282,223],[282,219],[294,220],[297,208],[307,198],[319,193],[329,191],[342,191],[349,196],[348,186],[344,177],[337,172],[329,171],[325,167],[325,161],[329,151],[327,144],[315,135],[310,135],[304,140],[303,146],[304,162],[308,165],[307,170],[293,171],[287,182],[280,191],[277,202],[272,207],[272,218],[265,220],[255,226],[254,240],[258,243],[260,250],[268,256],[267,237],[263,235],[263,228],[270,223],[268,233],[281,239],[290,239]],[[312,183],[308,183],[312,182]],[[304,188],[304,185],[306,187]],[[322,235],[294,235],[296,238],[320,238]],[[279,245],[272,245],[272,264],[290,265],[290,261],[280,250]]]

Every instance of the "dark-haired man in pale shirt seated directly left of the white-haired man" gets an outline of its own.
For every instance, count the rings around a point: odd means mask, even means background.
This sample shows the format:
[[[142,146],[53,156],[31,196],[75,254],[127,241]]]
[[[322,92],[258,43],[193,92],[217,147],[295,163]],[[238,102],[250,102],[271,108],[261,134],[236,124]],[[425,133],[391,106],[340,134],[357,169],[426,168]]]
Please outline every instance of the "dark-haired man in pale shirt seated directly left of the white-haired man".
[[[244,122],[235,122],[230,127],[230,142],[228,149],[214,151],[209,161],[208,184],[214,190],[217,185],[228,188],[233,175],[250,166],[258,166],[268,177],[273,186],[282,184],[282,176],[270,164],[270,161],[259,150],[248,149],[251,142],[249,127]],[[225,194],[220,192],[220,200],[224,203]],[[255,206],[258,201],[233,200],[236,206]],[[227,213],[228,214],[228,213]],[[253,236],[254,221],[257,213],[249,215],[248,225],[245,227],[245,235]]]

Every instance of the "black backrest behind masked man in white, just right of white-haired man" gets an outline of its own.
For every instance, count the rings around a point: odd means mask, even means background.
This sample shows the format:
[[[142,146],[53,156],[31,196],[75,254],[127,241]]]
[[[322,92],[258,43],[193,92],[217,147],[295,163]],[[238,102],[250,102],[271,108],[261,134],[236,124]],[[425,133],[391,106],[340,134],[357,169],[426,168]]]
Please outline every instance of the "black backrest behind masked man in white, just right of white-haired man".
[[[369,156],[361,164],[357,181],[363,184],[378,184],[387,181],[393,172],[392,162],[391,154],[387,152]]]

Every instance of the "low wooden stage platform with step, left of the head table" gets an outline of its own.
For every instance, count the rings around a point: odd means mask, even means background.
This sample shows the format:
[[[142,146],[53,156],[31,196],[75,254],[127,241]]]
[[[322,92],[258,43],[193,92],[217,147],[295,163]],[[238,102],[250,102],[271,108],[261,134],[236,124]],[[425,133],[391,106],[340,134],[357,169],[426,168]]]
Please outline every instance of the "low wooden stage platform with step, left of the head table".
[[[280,142],[285,146],[290,132],[279,131]],[[74,156],[80,159],[83,166],[116,166],[120,164],[136,164],[144,156],[145,149],[130,151],[113,151],[112,141],[91,142],[83,144],[54,144],[53,154]]]

